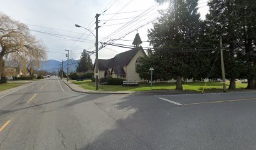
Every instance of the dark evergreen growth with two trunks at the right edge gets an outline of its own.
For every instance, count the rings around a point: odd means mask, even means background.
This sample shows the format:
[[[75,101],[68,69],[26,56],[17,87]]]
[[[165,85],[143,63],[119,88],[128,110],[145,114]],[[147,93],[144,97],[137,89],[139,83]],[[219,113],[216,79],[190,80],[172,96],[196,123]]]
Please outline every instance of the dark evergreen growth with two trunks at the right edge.
[[[210,13],[206,15],[208,34],[211,42],[223,39],[224,63],[229,89],[235,89],[235,79],[248,78],[248,88],[255,88],[255,65],[253,65],[253,47],[255,51],[255,2],[250,0],[211,0],[208,3]],[[253,31],[254,30],[254,31]],[[253,46],[254,45],[254,46]],[[220,62],[220,61],[219,61]],[[220,75],[220,63],[215,69]]]

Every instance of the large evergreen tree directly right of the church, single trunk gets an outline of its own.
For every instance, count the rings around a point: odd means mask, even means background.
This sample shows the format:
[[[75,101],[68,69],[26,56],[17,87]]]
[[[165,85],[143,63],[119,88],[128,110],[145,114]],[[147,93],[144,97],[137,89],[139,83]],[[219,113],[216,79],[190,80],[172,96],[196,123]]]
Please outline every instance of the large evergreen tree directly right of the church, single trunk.
[[[157,2],[164,2],[157,1]],[[176,79],[176,89],[182,90],[181,79],[202,79],[209,73],[211,53],[191,51],[202,49],[205,37],[204,22],[197,12],[198,0],[170,0],[167,12],[149,31],[150,43],[154,46],[163,69],[162,79]],[[206,73],[207,72],[207,73]]]

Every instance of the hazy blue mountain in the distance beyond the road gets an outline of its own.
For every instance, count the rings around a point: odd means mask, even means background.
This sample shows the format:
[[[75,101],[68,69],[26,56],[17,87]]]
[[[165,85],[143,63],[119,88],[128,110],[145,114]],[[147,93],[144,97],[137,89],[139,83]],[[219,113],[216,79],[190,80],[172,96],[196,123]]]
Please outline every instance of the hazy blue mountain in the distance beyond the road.
[[[74,72],[76,69],[77,69],[77,63],[78,63],[78,60],[75,60],[75,59],[70,59],[69,60],[69,71],[70,72]],[[60,66],[59,66],[60,64]],[[48,71],[48,72],[53,72],[53,71],[56,71],[58,72],[58,68],[61,68],[61,61],[56,61],[56,60],[48,60],[48,61],[40,61],[40,70],[45,70],[45,71]],[[68,61],[63,61],[63,71],[65,73],[67,73],[67,66],[68,66]]]

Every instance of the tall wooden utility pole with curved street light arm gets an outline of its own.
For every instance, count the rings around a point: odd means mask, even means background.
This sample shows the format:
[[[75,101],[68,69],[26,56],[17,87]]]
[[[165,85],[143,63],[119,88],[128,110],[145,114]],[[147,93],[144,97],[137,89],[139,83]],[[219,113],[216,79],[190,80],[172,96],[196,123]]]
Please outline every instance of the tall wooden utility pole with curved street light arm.
[[[76,27],[82,27],[83,29],[86,29],[87,31],[89,31],[90,33],[92,33],[92,35],[95,37],[95,52],[96,52],[96,58],[95,58],[95,90],[97,91],[99,89],[99,73],[98,73],[98,29],[99,29],[99,26],[98,26],[98,17],[100,15],[99,14],[96,14],[96,36],[93,34],[92,31],[90,31],[90,29],[87,29],[83,26],[80,26],[78,24],[75,24]]]

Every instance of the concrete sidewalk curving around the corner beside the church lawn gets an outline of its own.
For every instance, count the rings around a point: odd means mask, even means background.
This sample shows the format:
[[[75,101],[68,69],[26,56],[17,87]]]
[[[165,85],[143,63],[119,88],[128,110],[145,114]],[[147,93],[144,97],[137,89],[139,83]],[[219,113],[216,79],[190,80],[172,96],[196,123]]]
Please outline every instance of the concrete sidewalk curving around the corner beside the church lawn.
[[[78,93],[88,93],[88,94],[188,94],[192,92],[188,91],[176,91],[176,90],[153,90],[153,91],[95,91],[83,89],[77,84],[73,84],[66,79],[62,79],[62,81],[67,84],[67,86],[75,92]],[[195,92],[193,92],[195,93]]]

